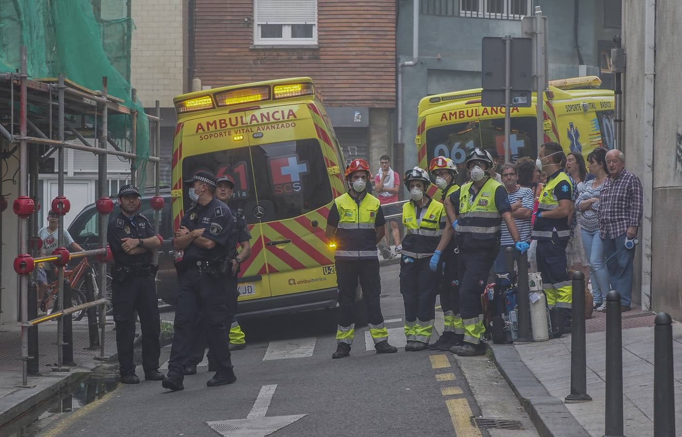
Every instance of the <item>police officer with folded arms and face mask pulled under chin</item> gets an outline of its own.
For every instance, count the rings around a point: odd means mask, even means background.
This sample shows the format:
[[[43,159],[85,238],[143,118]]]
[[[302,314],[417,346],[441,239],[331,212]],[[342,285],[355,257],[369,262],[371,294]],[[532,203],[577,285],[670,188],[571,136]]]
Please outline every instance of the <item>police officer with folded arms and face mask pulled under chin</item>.
[[[175,335],[168,360],[168,375],[162,382],[166,389],[182,390],[183,372],[192,355],[196,320],[205,321],[206,340],[216,358],[218,370],[206,382],[208,387],[231,384],[237,380],[228,349],[225,322],[237,308],[236,290],[227,277],[228,254],[233,235],[233,215],[215,198],[216,177],[200,170],[185,181],[188,196],[196,204],[188,209],[173,240],[183,257],[176,260],[179,292],[175,312]],[[232,246],[233,247],[233,246]]]

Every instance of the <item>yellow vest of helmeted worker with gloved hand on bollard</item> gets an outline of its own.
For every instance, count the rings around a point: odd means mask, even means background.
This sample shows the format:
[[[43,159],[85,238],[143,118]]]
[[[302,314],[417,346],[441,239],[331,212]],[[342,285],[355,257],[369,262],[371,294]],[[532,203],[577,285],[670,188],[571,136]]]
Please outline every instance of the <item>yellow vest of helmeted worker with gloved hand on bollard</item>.
[[[457,220],[458,240],[471,237],[475,240],[495,240],[501,237],[502,216],[497,211],[495,192],[502,184],[489,178],[473,199],[469,190],[473,181],[460,190],[460,215]]]

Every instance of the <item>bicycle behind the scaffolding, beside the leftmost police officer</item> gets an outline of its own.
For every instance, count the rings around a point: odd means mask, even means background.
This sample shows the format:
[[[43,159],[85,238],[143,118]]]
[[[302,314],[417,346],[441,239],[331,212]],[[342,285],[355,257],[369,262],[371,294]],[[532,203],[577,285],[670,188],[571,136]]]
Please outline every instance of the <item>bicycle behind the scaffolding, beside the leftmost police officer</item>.
[[[64,286],[70,288],[72,307],[80,305],[81,303],[85,303],[87,301],[85,299],[85,280],[87,279],[85,273],[87,273],[87,271],[90,271],[93,277],[95,278],[97,277],[94,267],[88,262],[87,258],[85,257],[83,258],[83,260],[80,260],[80,262],[78,262],[74,269],[64,271]],[[45,296],[40,302],[40,310],[46,312],[46,314],[50,314],[54,311],[59,310],[59,307],[57,305],[58,281],[59,280],[55,280],[48,284]],[[113,304],[111,303],[112,290],[111,282],[112,282],[111,276],[106,275],[106,292],[104,293],[104,297],[106,298],[105,308],[107,315],[110,315],[113,310]],[[97,296],[95,296],[95,299],[96,297]],[[85,316],[86,312],[87,310],[73,312],[72,320],[81,320]]]

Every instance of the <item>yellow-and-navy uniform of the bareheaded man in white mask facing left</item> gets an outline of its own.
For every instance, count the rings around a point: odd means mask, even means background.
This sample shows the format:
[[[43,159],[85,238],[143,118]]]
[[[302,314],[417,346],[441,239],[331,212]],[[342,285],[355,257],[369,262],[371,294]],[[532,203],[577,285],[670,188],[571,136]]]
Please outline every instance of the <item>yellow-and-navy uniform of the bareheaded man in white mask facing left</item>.
[[[561,170],[554,172],[540,192],[537,213],[557,209],[560,200],[572,200],[572,192],[568,175]],[[554,307],[570,310],[572,282],[566,268],[566,246],[571,237],[568,216],[536,216],[531,237],[537,240],[537,268],[542,274],[542,288],[547,296],[548,307],[550,310]]]

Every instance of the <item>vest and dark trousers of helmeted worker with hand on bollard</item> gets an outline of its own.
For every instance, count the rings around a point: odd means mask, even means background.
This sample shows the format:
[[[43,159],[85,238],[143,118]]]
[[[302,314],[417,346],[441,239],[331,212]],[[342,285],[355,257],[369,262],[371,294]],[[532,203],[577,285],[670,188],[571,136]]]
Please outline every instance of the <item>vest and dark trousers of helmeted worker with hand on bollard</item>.
[[[455,213],[460,316],[464,342],[479,345],[486,331],[481,295],[499,252],[502,214],[511,211],[504,185],[488,177],[476,192],[473,181],[450,194]],[[477,346],[480,348],[480,346]]]

